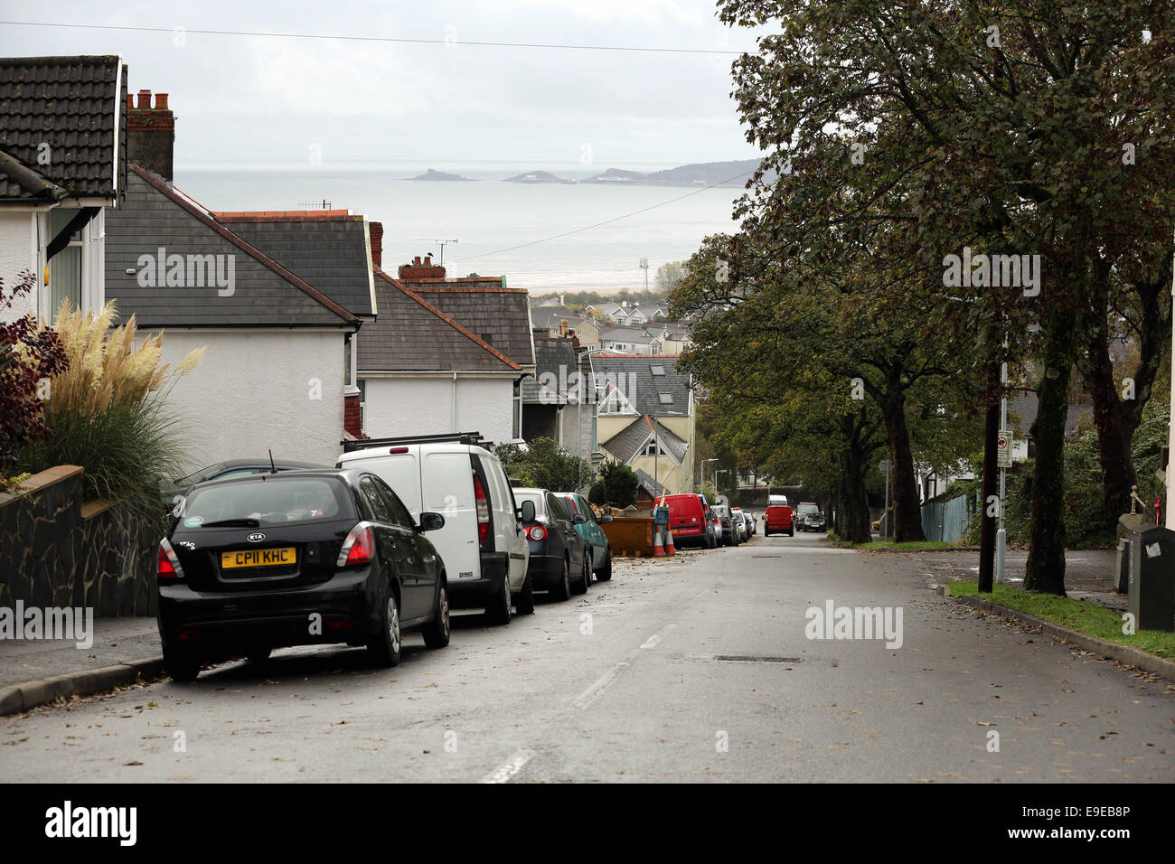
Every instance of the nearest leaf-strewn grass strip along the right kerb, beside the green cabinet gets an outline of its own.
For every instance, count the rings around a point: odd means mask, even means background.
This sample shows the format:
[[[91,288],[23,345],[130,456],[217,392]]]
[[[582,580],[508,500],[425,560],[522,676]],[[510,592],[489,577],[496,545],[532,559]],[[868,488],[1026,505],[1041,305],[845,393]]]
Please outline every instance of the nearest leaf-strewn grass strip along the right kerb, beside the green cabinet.
[[[1139,630],[1132,636],[1122,632],[1122,616],[1113,609],[1086,603],[1054,594],[1021,591],[1007,585],[994,585],[992,594],[980,594],[975,580],[947,582],[952,597],[974,596],[1008,609],[1035,615],[1042,621],[1067,627],[1070,630],[1096,636],[1119,645],[1129,645],[1140,651],[1148,651],[1166,659],[1175,659],[1175,634],[1161,630]]]

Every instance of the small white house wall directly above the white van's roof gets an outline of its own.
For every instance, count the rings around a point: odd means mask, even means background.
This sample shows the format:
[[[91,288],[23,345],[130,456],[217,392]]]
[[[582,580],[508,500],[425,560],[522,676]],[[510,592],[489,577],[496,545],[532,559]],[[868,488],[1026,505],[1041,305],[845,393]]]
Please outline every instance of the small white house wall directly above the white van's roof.
[[[495,443],[513,438],[513,380],[462,376],[365,377],[363,431],[372,438],[479,431]],[[456,424],[454,407],[456,406]]]

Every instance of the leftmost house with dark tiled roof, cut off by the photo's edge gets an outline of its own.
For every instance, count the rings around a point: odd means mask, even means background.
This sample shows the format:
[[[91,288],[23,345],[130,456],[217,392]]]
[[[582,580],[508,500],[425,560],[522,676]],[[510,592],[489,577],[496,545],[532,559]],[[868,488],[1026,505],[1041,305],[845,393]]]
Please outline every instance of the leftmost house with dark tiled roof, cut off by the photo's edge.
[[[163,96],[166,105],[167,96]],[[0,59],[0,279],[36,279],[0,317],[53,320],[106,299],[106,216],[126,194],[127,67],[119,56]]]

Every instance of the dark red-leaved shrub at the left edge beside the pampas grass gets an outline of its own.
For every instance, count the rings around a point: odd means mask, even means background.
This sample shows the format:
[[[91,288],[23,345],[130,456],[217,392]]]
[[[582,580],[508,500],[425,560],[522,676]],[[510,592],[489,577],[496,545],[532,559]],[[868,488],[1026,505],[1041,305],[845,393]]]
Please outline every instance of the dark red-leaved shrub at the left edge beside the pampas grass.
[[[36,279],[25,270],[6,296],[0,279],[0,308],[11,309],[16,297],[31,294]],[[68,359],[55,330],[40,327],[32,313],[0,324],[0,476],[16,458],[24,444],[53,433],[45,422],[46,386],[62,371]]]

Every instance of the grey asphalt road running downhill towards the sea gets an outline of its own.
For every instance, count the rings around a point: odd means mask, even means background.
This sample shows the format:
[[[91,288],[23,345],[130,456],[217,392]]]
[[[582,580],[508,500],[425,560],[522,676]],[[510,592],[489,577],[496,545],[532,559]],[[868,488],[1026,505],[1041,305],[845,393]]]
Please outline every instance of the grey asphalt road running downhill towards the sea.
[[[1175,688],[924,571],[811,534],[617,562],[505,628],[456,617],[446,649],[409,636],[397,669],[289,649],[4,718],[0,781],[1175,779]],[[807,638],[830,600],[900,608],[901,647]]]

